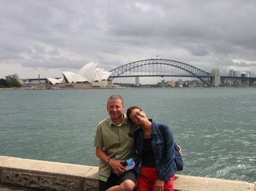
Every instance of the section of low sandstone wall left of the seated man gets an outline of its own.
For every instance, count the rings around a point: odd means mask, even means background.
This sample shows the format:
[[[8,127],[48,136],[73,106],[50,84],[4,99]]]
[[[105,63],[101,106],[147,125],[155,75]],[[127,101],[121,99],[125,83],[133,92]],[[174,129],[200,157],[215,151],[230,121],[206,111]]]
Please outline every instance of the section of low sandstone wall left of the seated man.
[[[0,183],[19,189],[98,190],[98,167],[0,156]]]

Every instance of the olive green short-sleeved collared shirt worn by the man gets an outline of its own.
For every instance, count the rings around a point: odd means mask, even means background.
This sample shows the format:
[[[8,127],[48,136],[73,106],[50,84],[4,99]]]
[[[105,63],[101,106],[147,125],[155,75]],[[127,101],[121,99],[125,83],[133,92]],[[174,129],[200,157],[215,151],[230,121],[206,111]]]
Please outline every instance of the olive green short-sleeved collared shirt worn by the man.
[[[94,147],[102,148],[108,157],[114,160],[135,158],[135,126],[124,114],[123,122],[115,125],[111,117],[99,123],[96,130]],[[99,179],[107,181],[111,173],[110,165],[99,161]]]

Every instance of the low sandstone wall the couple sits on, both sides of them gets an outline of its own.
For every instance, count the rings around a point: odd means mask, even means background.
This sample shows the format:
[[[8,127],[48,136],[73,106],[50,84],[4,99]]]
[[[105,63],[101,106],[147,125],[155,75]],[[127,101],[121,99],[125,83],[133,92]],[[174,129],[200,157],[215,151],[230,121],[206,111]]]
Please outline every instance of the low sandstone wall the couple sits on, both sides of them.
[[[180,191],[255,191],[255,183],[179,174],[174,186]],[[0,191],[11,190],[98,190],[98,167],[0,156]]]

